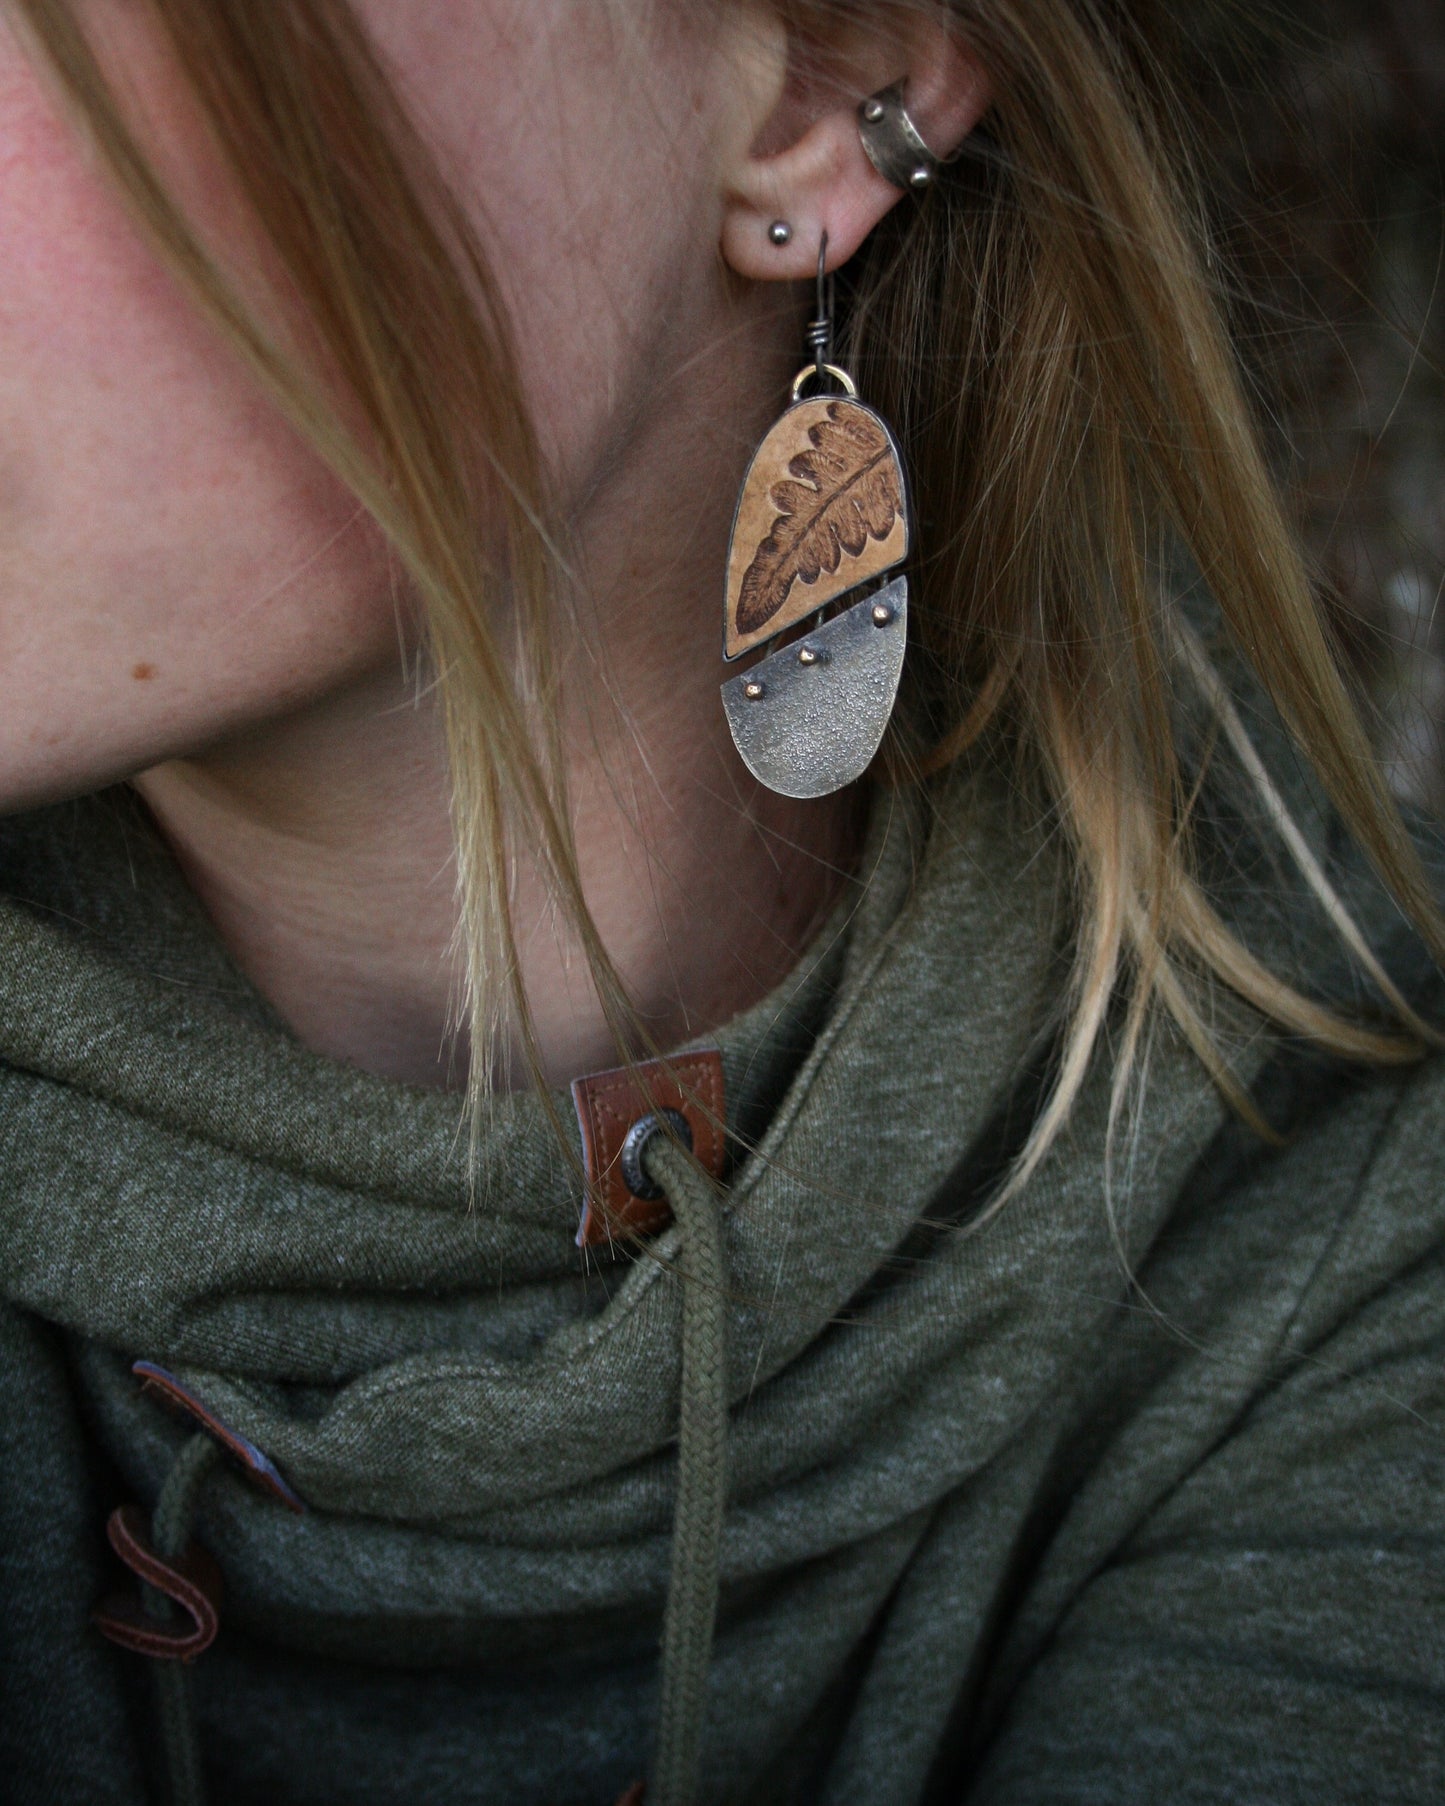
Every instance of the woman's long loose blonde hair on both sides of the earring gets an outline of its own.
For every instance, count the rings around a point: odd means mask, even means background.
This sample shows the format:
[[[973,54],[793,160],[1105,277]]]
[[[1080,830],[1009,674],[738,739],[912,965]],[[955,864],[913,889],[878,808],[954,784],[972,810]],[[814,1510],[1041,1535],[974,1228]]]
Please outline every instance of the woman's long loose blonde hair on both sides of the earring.
[[[547,742],[556,677],[545,475],[486,264],[345,0],[148,7],[302,303],[316,347],[307,354],[267,336],[224,258],[172,204],[69,0],[18,0],[170,265],[379,522],[424,605],[453,777],[473,1085],[488,1082],[484,1049],[502,1010],[536,1064],[517,995],[509,833],[531,834],[625,1040],[627,1001],[587,917]],[[797,0],[784,11],[807,38],[885,5]],[[900,209],[874,235],[858,260],[849,332],[871,399],[901,430],[928,535],[916,621],[941,694],[921,762],[937,768],[986,731],[1002,737],[1039,775],[1071,854],[1062,1057],[1017,1185],[1064,1123],[1120,993],[1116,1107],[1161,1008],[1252,1114],[1208,1026],[1205,999],[1217,984],[1347,1058],[1411,1058],[1432,1038],[1335,898],[1203,647],[1163,596],[1167,558],[1198,571],[1340,820],[1436,957],[1445,926],[1259,448],[1145,36],[1095,0],[956,0],[937,11],[990,70],[986,139],[928,204]],[[488,535],[504,545],[500,567]],[[511,648],[497,645],[482,607],[502,580]],[[1268,970],[1205,894],[1176,674],[1205,695],[1375,981],[1380,1020],[1349,1019]]]

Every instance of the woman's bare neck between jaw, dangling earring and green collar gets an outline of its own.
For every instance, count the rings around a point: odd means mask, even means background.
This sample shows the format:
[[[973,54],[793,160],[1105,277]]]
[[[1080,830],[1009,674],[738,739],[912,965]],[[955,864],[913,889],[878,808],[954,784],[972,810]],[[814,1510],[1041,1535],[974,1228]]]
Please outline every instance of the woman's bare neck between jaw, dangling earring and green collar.
[[[580,513],[591,605],[562,724],[573,831],[592,919],[659,1046],[708,1033],[778,982],[853,854],[856,800],[760,789],[717,699],[737,446],[778,386],[757,370],[753,356],[755,394],[733,388],[742,401],[712,441],[679,446],[661,408]],[[638,520],[657,524],[645,556]],[[135,782],[235,959],[307,1046],[410,1084],[464,1082],[432,686],[397,661]],[[616,1064],[580,948],[524,856],[511,907],[545,1076]],[[509,1071],[520,1080],[518,1047]]]

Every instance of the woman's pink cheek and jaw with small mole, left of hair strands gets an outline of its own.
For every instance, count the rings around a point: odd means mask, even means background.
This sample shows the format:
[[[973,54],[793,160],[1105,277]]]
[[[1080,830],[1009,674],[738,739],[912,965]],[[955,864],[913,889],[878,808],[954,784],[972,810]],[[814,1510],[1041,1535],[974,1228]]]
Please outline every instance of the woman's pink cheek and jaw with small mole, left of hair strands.
[[[394,656],[378,535],[161,271],[0,25],[0,807]]]

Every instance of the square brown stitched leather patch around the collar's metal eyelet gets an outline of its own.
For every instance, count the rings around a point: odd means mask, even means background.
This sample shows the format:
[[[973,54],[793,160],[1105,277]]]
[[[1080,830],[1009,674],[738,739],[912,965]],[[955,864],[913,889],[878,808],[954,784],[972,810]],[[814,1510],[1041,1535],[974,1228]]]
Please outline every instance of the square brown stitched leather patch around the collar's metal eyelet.
[[[621,1145],[639,1116],[681,1111],[692,1131],[697,1165],[715,1179],[722,1178],[722,1055],[715,1047],[574,1078],[573,1103],[587,1165],[578,1248],[596,1248],[618,1235],[656,1235],[672,1221],[665,1197],[638,1197],[621,1174]]]

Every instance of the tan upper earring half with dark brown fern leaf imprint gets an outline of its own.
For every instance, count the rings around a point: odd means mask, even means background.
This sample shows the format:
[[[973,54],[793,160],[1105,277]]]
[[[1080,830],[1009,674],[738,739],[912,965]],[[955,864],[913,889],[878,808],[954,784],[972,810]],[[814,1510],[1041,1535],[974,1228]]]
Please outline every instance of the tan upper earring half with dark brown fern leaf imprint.
[[[757,448],[739,497],[726,657],[890,571],[907,551],[903,466],[883,421],[844,396],[797,403]]]

